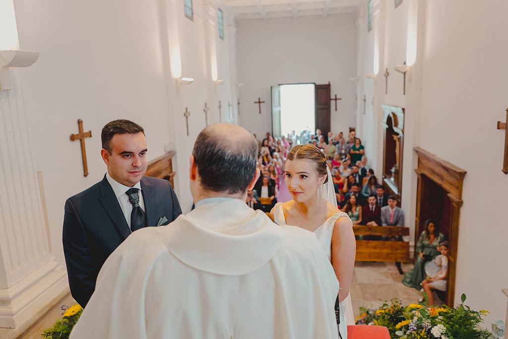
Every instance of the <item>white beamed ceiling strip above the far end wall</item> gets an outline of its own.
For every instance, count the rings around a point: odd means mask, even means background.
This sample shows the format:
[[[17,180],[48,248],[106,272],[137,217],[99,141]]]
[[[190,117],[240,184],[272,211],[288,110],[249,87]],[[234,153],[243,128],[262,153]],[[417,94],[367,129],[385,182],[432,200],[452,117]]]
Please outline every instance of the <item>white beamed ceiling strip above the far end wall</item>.
[[[236,19],[294,19],[299,16],[354,13],[365,0],[225,0]]]

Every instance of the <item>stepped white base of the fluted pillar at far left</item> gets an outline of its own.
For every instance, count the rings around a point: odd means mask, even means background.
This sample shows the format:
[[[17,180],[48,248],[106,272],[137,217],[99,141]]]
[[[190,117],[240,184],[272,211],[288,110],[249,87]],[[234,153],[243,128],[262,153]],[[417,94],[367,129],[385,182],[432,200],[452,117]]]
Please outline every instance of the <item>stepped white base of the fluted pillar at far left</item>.
[[[18,328],[31,321],[69,289],[67,271],[54,258],[11,287],[0,289],[0,327]]]

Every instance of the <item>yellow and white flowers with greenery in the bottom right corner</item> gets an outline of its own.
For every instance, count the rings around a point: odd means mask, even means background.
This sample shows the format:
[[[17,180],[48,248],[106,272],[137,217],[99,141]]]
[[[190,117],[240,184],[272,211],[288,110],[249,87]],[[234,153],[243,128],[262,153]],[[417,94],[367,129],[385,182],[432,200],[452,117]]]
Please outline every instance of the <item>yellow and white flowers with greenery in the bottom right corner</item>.
[[[391,338],[398,339],[496,339],[504,334],[504,324],[492,324],[492,332],[481,326],[488,311],[473,311],[462,303],[455,308],[428,307],[423,303],[402,306],[398,299],[385,302],[378,309],[360,307],[359,325],[388,327]]]

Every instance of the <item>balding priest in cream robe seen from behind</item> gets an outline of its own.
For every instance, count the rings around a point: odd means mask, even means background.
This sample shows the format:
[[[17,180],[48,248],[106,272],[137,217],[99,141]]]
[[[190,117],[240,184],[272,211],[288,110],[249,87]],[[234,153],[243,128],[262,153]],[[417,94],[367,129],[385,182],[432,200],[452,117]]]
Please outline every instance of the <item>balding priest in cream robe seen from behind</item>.
[[[71,339],[337,338],[337,278],[315,235],[245,204],[257,154],[239,126],[203,130],[190,156],[196,208],[118,247]]]

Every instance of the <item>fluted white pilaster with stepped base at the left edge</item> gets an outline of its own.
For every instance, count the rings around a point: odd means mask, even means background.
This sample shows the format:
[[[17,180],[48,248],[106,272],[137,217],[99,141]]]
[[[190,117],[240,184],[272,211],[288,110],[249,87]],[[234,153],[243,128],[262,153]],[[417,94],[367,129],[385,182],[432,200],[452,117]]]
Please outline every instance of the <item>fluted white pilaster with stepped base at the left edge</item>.
[[[10,72],[13,89],[0,91],[0,327],[17,328],[69,287],[49,251],[20,78]]]

